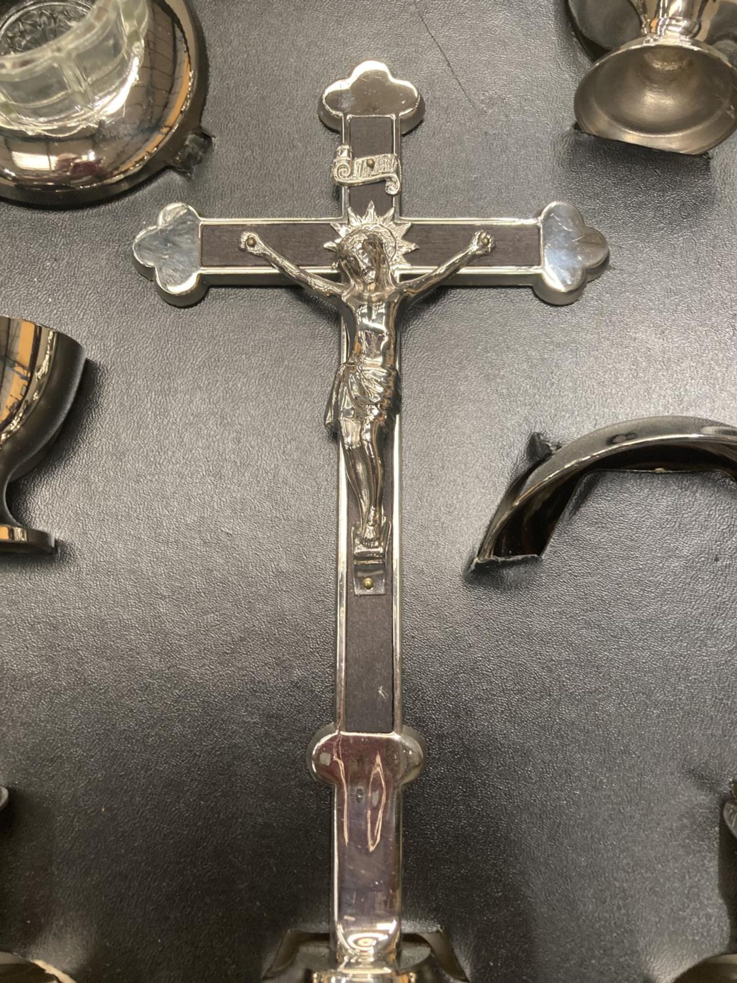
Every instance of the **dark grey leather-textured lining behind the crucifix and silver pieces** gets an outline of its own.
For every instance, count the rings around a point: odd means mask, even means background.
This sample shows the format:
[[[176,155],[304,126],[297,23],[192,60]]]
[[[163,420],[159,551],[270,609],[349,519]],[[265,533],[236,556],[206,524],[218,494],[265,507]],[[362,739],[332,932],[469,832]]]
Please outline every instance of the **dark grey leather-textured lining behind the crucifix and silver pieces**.
[[[556,0],[198,0],[212,151],[84,211],[0,206],[0,307],[91,364],[19,516],[55,560],[0,564],[0,945],[78,983],[251,981],[328,906],[338,325],[296,290],[167,307],[131,244],[166,202],[320,215],[316,99],[367,57],[425,95],[409,215],[570,199],[612,265],[553,309],[451,290],[404,331],[411,925],[476,983],[665,983],[728,948],[737,491],[607,475],[542,564],[464,568],[536,430],[737,423],[737,140],[710,158],[572,129],[588,64]]]

